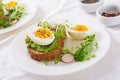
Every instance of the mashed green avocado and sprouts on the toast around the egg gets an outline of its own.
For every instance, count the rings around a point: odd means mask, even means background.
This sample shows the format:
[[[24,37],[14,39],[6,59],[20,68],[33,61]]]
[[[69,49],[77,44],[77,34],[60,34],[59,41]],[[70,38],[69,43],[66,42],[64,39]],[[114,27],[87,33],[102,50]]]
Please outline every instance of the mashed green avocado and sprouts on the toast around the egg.
[[[50,25],[48,22],[41,22],[40,23],[41,27],[47,27],[47,28],[52,28],[52,25]],[[64,25],[55,25],[54,28],[52,28],[54,30],[54,35],[55,35],[55,40],[49,44],[49,45],[39,45],[34,43],[29,37],[27,37],[25,39],[25,42],[27,44],[27,47],[39,51],[39,52],[51,52],[53,50],[55,50],[57,47],[59,47],[58,45],[58,38],[65,37],[65,26]]]

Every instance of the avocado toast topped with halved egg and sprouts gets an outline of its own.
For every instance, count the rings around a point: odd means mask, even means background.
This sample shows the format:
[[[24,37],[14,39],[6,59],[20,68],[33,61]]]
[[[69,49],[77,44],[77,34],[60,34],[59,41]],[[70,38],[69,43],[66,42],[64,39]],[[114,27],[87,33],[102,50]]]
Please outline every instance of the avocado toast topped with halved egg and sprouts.
[[[28,31],[25,39],[31,58],[37,61],[57,59],[61,55],[65,36],[65,25],[40,22],[38,27]]]

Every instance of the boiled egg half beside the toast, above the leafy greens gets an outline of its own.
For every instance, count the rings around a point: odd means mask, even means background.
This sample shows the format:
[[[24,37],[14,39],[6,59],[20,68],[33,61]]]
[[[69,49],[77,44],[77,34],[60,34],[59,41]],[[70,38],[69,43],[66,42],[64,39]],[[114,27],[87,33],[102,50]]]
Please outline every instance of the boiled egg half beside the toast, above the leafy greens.
[[[73,39],[85,39],[88,34],[88,28],[85,25],[75,25],[68,29],[68,35]]]

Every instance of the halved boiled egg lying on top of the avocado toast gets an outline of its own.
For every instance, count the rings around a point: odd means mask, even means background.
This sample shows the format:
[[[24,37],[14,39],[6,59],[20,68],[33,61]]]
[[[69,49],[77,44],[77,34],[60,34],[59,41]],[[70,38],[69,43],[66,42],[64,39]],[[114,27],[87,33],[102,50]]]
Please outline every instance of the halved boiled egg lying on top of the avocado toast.
[[[49,45],[54,39],[54,33],[50,29],[36,27],[28,31],[27,36],[39,45]]]

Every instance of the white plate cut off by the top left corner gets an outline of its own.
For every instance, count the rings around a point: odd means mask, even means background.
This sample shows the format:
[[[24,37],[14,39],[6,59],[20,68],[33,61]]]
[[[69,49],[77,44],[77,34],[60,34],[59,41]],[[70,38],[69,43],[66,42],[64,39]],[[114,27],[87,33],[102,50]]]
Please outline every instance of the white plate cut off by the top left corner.
[[[15,25],[5,29],[1,29],[0,34],[7,33],[19,27],[22,27],[22,25],[29,22],[35,16],[37,8],[33,3],[27,2],[26,0],[17,0],[17,2],[25,7],[25,12],[27,13],[27,15],[23,16]]]

